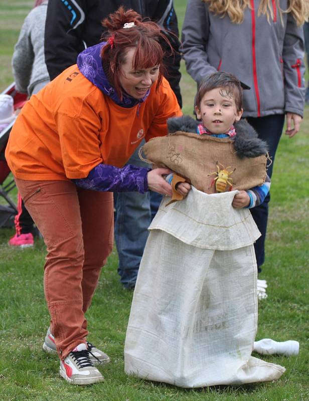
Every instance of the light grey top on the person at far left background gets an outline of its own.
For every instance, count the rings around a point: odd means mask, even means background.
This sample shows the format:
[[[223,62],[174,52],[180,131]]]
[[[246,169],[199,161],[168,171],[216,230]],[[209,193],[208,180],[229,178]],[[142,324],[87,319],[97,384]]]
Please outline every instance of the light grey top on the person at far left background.
[[[49,81],[44,56],[44,31],[48,0],[25,18],[12,58],[16,89],[32,94],[40,82]]]

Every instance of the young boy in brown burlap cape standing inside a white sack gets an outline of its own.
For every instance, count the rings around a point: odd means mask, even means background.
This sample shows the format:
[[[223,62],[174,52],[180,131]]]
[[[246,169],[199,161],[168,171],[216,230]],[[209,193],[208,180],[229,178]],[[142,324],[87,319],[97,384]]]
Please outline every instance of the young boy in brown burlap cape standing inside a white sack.
[[[214,193],[210,184],[216,160],[236,168],[236,188],[263,182],[266,146],[240,121],[240,82],[230,74],[217,72],[203,81],[196,113],[201,122],[188,116],[170,119],[171,135],[144,147],[154,164],[176,171],[166,179],[173,180],[173,191],[188,197],[173,204],[164,198],[148,229],[124,368],[180,387],[275,380],[284,368],[251,356],[257,329],[253,244],[260,232],[246,209],[263,202],[269,179],[249,190],[230,191],[229,184],[222,193]],[[192,189],[178,173],[192,181]]]

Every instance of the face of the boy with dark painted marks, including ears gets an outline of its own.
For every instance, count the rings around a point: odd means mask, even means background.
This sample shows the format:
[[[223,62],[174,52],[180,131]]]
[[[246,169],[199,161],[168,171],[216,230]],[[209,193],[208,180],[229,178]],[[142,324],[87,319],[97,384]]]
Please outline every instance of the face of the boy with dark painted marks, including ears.
[[[234,93],[229,88],[215,88],[205,93],[200,108],[195,106],[195,111],[210,132],[223,134],[240,120],[243,110],[236,110]]]

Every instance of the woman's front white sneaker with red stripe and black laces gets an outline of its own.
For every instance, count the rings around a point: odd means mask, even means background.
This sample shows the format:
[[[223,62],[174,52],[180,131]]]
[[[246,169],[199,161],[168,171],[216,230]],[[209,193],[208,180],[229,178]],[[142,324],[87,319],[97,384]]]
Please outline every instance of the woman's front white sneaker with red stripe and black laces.
[[[90,360],[86,344],[77,345],[69,355],[60,361],[60,376],[70,384],[93,384],[104,381],[99,370]]]

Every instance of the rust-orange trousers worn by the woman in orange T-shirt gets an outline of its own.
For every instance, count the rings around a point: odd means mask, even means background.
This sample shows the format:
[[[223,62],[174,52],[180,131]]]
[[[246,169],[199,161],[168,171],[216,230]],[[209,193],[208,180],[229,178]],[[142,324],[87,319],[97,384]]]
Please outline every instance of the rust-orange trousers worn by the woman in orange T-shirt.
[[[47,247],[44,292],[64,359],[86,341],[84,313],[113,246],[113,194],[71,181],[16,179],[16,184]]]

